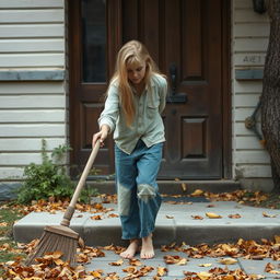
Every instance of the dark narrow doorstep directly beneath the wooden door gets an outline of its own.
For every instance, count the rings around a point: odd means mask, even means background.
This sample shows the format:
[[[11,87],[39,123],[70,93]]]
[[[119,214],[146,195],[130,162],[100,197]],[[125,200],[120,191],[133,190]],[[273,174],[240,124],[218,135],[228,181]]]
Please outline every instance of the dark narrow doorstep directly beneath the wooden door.
[[[93,176],[86,182],[88,186],[96,188],[100,194],[115,194],[114,177]],[[158,180],[160,192],[167,195],[189,195],[196,189],[210,192],[231,192],[241,189],[237,180]]]

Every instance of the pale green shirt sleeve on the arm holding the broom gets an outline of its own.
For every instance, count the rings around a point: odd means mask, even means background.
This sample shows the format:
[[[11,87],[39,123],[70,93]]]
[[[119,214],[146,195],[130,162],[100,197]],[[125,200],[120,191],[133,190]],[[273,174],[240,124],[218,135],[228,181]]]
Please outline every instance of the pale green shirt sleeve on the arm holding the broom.
[[[109,127],[109,133],[116,128],[116,121],[119,116],[119,96],[118,90],[115,85],[110,85],[108,89],[108,96],[105,102],[105,107],[98,118],[100,128],[103,125]]]

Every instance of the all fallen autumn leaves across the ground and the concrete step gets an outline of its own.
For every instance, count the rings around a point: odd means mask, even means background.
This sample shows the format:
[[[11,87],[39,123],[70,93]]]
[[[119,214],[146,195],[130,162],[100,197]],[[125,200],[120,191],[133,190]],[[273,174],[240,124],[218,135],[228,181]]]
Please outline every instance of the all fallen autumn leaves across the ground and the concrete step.
[[[249,203],[254,206],[264,205],[268,201],[268,196],[261,192],[248,192],[244,190],[237,190],[234,192],[224,194],[211,194],[196,190],[190,196],[205,196],[211,201],[215,200],[235,200],[240,203]],[[102,203],[94,205],[78,205],[78,214],[82,214],[83,211],[92,213],[91,219],[112,219],[117,218],[116,214],[110,213],[113,209],[107,208],[106,203],[116,202],[115,196],[102,195]],[[279,198],[279,197],[278,197]],[[167,201],[168,202],[168,201]],[[128,266],[124,264],[124,260],[109,262],[109,266],[124,267],[122,271],[126,277],[120,278],[116,272],[107,273],[102,269],[96,268],[94,271],[86,271],[84,265],[90,262],[93,258],[102,258],[107,252],[114,250],[119,254],[124,248],[109,245],[107,247],[85,247],[83,249],[78,248],[77,252],[77,267],[70,267],[68,262],[63,262],[61,252],[52,252],[46,254],[43,258],[37,259],[37,264],[32,267],[24,266],[25,257],[36,246],[37,241],[33,241],[30,244],[15,244],[12,240],[12,224],[15,220],[30,213],[31,211],[65,211],[69,201],[34,201],[31,206],[0,206],[0,279],[14,279],[14,280],[39,280],[39,279],[58,279],[58,280],[78,280],[78,279],[141,279],[149,277],[149,273],[153,271],[153,279],[162,279],[167,275],[165,267],[152,267],[141,264],[140,259],[129,260]],[[176,203],[170,201],[170,203]],[[183,202],[178,202],[183,203]],[[191,203],[191,202],[188,202]],[[269,205],[269,203],[268,203]],[[209,205],[211,207],[211,205]],[[275,205],[270,205],[275,208]],[[278,207],[277,207],[278,208]],[[262,215],[266,218],[266,212]],[[209,219],[219,219],[219,213],[209,211],[206,213]],[[168,218],[168,217],[166,217]],[[238,219],[240,217],[232,217],[232,219]],[[202,217],[192,217],[192,219],[203,219]],[[213,267],[211,264],[203,264],[201,266],[209,267],[208,271],[192,272],[185,271],[184,279],[200,279],[200,280],[235,280],[235,279],[261,279],[260,275],[246,275],[241,269],[231,269],[231,265],[235,264],[236,258],[246,259],[264,259],[270,258],[271,260],[280,260],[280,236],[275,236],[273,241],[262,240],[260,243],[255,241],[240,240],[236,244],[217,244],[209,246],[201,244],[197,246],[188,246],[187,244],[171,244],[163,245],[161,250],[164,253],[163,260],[165,264],[174,266],[186,266],[190,258],[202,259],[203,257],[219,258],[221,267]],[[127,264],[127,262],[126,262]],[[186,266],[187,268],[187,266]],[[280,266],[267,262],[265,271],[271,276],[280,277]],[[152,278],[150,278],[152,279]]]

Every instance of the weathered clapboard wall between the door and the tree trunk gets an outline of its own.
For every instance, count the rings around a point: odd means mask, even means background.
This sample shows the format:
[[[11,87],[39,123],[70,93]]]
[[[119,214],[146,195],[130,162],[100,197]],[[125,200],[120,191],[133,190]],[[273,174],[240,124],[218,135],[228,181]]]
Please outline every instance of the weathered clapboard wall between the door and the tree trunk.
[[[232,1],[232,147],[233,176],[250,189],[270,190],[270,162],[257,136],[245,127],[262,91],[262,69],[269,40],[267,13],[253,10],[252,0]],[[243,77],[238,73],[243,70]],[[257,113],[258,129],[260,112]]]

